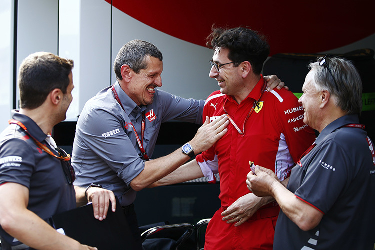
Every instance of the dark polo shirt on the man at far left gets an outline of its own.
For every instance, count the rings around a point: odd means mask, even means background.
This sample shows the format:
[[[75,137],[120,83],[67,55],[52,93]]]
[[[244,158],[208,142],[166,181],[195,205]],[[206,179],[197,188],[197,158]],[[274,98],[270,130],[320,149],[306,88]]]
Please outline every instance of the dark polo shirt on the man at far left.
[[[49,146],[47,135],[32,119],[17,111],[12,117],[25,125],[36,140]],[[0,185],[6,182],[29,189],[27,209],[42,219],[76,207],[74,187],[67,182],[61,161],[42,151],[16,124],[0,135]]]

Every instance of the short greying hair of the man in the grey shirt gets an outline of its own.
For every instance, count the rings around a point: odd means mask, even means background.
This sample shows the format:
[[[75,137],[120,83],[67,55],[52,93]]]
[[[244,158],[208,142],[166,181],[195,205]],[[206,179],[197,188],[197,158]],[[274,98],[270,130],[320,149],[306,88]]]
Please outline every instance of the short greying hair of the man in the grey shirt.
[[[113,63],[114,73],[118,80],[122,80],[121,66],[126,64],[135,72],[147,68],[145,57],[149,55],[163,60],[160,50],[150,42],[142,40],[132,40],[122,46]]]

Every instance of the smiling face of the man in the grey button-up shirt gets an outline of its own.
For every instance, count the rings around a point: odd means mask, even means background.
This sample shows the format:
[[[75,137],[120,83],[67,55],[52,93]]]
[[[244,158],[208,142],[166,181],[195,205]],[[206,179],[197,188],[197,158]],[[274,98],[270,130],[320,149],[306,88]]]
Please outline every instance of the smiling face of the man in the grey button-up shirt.
[[[138,105],[149,105],[153,103],[156,87],[161,87],[161,72],[163,62],[151,56],[146,56],[147,67],[135,73],[130,69],[130,81],[125,85],[124,91]]]

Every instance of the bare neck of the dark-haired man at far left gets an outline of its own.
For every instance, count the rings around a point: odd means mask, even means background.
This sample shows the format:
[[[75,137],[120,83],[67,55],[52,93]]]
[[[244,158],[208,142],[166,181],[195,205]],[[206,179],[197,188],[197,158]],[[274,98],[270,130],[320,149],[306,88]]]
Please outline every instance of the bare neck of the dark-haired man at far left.
[[[53,126],[58,123],[52,121],[53,114],[46,112],[41,107],[35,109],[21,108],[19,113],[32,119],[45,134],[51,134]]]

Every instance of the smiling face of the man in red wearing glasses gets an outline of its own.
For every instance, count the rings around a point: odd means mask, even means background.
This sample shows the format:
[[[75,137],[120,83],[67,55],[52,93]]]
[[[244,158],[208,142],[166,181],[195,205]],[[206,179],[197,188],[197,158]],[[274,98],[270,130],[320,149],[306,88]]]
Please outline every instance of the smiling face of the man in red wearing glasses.
[[[213,62],[217,64],[225,64],[231,62],[228,58],[229,49],[216,48],[212,56]],[[236,96],[243,89],[241,67],[234,67],[233,64],[227,64],[220,67],[220,72],[217,72],[214,66],[211,67],[209,77],[215,78],[223,94]]]

